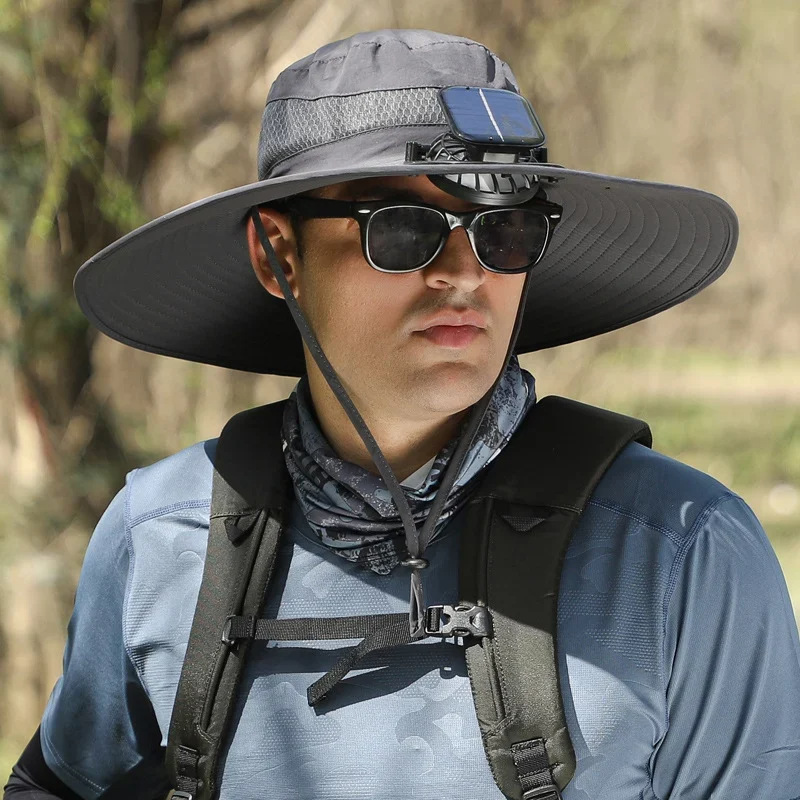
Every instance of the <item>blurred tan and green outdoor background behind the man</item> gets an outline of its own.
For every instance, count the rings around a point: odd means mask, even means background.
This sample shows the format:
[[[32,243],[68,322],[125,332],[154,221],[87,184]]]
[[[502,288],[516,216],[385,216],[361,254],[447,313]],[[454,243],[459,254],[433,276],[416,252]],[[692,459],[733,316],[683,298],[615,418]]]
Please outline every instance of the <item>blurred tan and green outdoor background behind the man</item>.
[[[741,222],[718,283],[523,357],[541,395],[641,416],[739,492],[800,609],[800,5],[796,0],[0,0],[0,778],[61,672],[83,553],[125,473],[294,381],[90,330],[77,268],[256,179],[271,81],[360,30],[431,28],[508,61],[552,161],[684,183]]]

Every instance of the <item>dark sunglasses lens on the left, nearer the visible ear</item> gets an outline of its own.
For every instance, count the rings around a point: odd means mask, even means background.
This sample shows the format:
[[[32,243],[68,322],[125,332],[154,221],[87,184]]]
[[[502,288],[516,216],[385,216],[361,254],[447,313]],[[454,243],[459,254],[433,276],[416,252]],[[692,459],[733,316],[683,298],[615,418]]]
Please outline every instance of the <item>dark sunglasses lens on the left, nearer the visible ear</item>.
[[[367,252],[375,266],[388,272],[416,269],[439,249],[443,223],[430,208],[383,208],[367,225]]]

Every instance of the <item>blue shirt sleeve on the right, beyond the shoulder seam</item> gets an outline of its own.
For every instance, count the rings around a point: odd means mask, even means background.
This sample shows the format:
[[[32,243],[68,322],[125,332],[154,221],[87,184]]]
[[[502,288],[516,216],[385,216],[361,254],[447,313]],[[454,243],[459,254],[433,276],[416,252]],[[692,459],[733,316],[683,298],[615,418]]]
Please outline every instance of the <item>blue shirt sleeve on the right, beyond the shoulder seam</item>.
[[[800,642],[761,525],[735,496],[710,508],[676,560],[665,629],[660,800],[800,797]]]

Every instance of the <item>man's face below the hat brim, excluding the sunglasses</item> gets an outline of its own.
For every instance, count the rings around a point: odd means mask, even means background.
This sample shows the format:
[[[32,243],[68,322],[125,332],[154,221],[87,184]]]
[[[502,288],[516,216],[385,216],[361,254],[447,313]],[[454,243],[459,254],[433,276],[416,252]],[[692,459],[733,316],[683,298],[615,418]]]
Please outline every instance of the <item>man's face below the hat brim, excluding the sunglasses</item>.
[[[425,176],[351,181],[318,194],[475,208]],[[301,238],[295,297],[360,409],[433,420],[468,408],[491,387],[511,337],[524,274],[483,269],[463,228],[450,233],[427,267],[404,274],[379,272],[367,263],[353,219],[306,220]],[[477,314],[470,321],[479,326],[422,330],[438,314],[464,312]],[[308,351],[306,362],[309,373],[316,371]]]

